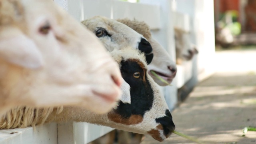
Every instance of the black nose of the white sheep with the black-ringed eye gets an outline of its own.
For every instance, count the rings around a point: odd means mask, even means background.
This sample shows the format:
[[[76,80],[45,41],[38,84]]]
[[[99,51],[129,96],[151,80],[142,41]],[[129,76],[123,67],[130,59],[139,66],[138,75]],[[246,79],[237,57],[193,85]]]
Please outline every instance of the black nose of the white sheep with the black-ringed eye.
[[[147,64],[150,64],[154,57],[154,55],[152,53],[153,49],[152,49],[151,44],[145,38],[141,38],[138,48],[141,52],[145,53],[146,62],[147,62]]]

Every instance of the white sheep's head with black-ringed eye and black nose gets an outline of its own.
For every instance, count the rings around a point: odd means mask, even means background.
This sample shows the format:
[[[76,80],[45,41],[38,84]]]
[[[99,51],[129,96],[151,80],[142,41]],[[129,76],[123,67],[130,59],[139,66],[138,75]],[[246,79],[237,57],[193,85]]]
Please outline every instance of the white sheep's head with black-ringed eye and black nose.
[[[144,36],[130,27],[103,16],[94,16],[82,21],[82,24],[102,41],[108,51],[131,46],[144,52],[146,62],[151,63],[153,59],[152,46]]]

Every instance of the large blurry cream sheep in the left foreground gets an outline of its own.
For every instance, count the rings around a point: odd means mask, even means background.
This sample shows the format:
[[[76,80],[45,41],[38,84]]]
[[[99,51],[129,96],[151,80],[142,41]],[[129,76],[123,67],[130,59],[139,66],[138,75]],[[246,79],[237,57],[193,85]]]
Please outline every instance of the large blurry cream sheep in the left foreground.
[[[0,116],[14,106],[106,113],[121,82],[98,38],[52,0],[0,1]]]

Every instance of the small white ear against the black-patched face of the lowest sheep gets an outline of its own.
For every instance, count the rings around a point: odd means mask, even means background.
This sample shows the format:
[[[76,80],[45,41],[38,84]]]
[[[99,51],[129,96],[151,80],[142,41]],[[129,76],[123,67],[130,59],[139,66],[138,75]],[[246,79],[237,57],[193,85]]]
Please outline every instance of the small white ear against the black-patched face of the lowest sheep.
[[[131,104],[131,94],[130,94],[130,85],[123,80],[121,85],[122,96],[120,101],[123,103]]]

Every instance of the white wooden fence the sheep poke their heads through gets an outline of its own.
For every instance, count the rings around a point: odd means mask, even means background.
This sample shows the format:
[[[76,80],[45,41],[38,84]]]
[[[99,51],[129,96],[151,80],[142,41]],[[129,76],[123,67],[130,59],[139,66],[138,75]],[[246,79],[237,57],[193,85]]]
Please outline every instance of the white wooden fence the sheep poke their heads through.
[[[118,0],[54,0],[81,21],[101,15],[108,18],[136,18],[144,20],[152,36],[160,42],[175,60],[173,26],[191,32],[199,54],[192,61],[178,66],[172,86],[161,87],[170,110],[177,102],[177,89],[191,79],[195,84],[213,72],[214,17],[213,0],[140,0],[140,3]],[[176,12],[180,12],[175,18]],[[182,14],[183,13],[183,14]],[[207,19],[207,20],[206,20]],[[88,123],[44,124],[33,128],[0,130],[0,144],[86,144],[107,132],[109,127]]]

